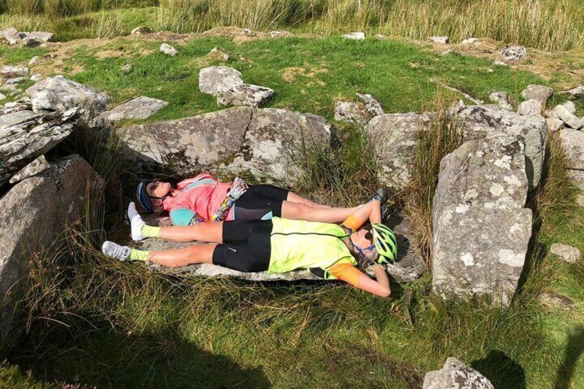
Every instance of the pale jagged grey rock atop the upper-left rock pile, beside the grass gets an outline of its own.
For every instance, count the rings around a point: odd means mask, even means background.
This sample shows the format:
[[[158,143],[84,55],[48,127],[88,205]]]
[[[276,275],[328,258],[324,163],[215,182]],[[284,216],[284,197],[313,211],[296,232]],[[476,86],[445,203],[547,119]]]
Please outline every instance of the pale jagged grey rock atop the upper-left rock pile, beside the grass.
[[[32,110],[65,112],[73,107],[85,109],[83,120],[105,110],[110,98],[92,87],[87,87],[63,76],[45,78],[26,90],[32,102]]]

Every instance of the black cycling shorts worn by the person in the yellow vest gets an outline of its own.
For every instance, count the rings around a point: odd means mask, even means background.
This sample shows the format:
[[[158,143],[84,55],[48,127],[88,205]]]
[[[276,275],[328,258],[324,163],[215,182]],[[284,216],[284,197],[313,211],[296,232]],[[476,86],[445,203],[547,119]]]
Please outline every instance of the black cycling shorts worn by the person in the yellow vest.
[[[213,251],[213,264],[237,271],[267,271],[271,232],[271,220],[223,222],[223,243]]]

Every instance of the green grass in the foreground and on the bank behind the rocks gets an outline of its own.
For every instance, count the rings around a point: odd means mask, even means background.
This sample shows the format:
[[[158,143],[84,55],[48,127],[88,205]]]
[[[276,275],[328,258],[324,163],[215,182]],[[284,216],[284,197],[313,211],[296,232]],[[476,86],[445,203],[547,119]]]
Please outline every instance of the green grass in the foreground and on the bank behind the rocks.
[[[227,65],[240,70],[244,81],[275,90],[269,106],[326,118],[333,117],[337,98],[354,98],[355,92],[377,96],[386,112],[432,109],[435,96],[446,92],[430,77],[483,99],[500,90],[519,100],[523,87],[542,82],[528,72],[508,67],[488,72],[489,61],[436,56],[398,41],[291,38],[234,45],[228,39],[196,39],[177,45],[176,57],[159,54],[158,45],[118,39],[99,48],[80,47],[64,61],[63,74],[107,92],[112,105],[139,95],[169,101],[150,120],[217,109],[214,98],[198,92],[199,61],[215,46],[231,54]],[[95,56],[119,48],[128,58]],[[143,49],[153,52],[140,54]],[[7,63],[25,63],[33,53],[15,49],[1,55]],[[129,75],[121,70],[126,62],[134,65]],[[83,71],[69,74],[79,66]],[[291,67],[314,75],[285,81],[282,74]],[[428,274],[409,285],[393,284],[392,298],[385,301],[332,282],[166,277],[139,264],[109,260],[98,247],[116,231],[127,235],[120,216],[132,193],[126,178],[134,172],[124,171],[115,144],[96,149],[84,134],[76,132],[66,146],[106,178],[106,207],[90,203],[98,222],[83,220],[64,249],[53,254],[48,248],[31,258],[34,272],[23,301],[28,317],[12,349],[4,352],[12,366],[0,368],[0,386],[28,379],[24,387],[56,380],[115,388],[418,388],[425,373],[440,368],[447,357],[461,358],[498,388],[563,388],[567,377],[574,380],[572,387],[584,386],[583,361],[577,359],[584,273],[545,251],[556,241],[584,249],[584,211],[572,206],[575,192],[562,173],[556,143],[550,144],[554,153],[548,154],[545,185],[536,196],[540,250],[519,295],[503,310],[481,300],[442,302],[428,293]],[[315,156],[309,163],[322,166],[311,171],[309,185],[293,189],[342,187],[343,179],[353,181],[371,169],[371,160],[364,158],[371,145],[362,132],[343,126],[340,136],[344,143],[337,160]],[[363,175],[359,187],[371,185],[369,180]],[[364,194],[347,192],[346,202]],[[333,196],[326,200],[340,200]],[[544,308],[537,302],[541,291],[563,293],[577,308],[569,313]],[[410,304],[407,292],[413,293]],[[405,319],[406,310],[413,325]]]

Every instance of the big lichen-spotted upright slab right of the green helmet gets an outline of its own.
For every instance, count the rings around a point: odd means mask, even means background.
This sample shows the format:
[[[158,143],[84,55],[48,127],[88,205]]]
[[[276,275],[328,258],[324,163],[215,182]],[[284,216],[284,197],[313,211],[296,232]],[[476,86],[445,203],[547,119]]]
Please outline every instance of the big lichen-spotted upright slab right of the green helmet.
[[[470,140],[442,159],[432,211],[432,286],[441,297],[510,303],[532,231],[525,161],[523,138],[505,134]]]

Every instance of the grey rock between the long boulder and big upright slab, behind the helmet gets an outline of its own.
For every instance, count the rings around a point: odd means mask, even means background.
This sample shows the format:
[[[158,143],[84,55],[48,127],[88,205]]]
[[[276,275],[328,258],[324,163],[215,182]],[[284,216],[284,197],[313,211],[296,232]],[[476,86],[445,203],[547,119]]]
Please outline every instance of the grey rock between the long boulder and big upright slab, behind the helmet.
[[[432,124],[431,114],[384,114],[366,127],[375,143],[380,180],[390,187],[404,187],[413,173],[418,133]]]

